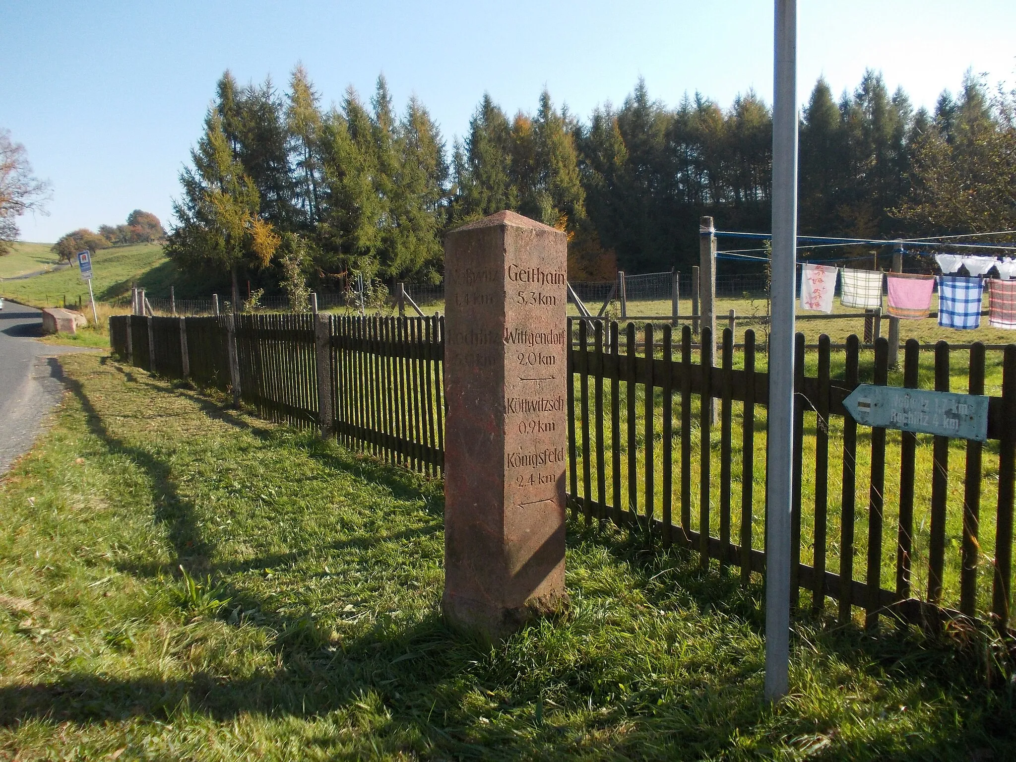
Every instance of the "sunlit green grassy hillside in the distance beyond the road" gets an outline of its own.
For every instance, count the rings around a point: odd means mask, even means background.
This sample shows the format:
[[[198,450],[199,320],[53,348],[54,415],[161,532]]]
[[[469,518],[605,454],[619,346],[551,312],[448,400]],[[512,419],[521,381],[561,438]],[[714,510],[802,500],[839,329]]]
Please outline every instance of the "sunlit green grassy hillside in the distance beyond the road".
[[[18,244],[18,247],[44,247],[45,244]],[[48,250],[48,246],[46,246]],[[29,253],[11,254],[19,256],[27,262]],[[35,256],[40,257],[40,253]],[[0,267],[9,257],[0,259]],[[26,265],[25,265],[26,266]],[[13,266],[10,267],[14,269]],[[43,266],[26,266],[24,271],[43,269]],[[135,246],[120,246],[103,249],[92,257],[92,289],[96,299],[113,304],[126,303],[129,299],[131,283],[137,283],[145,289],[151,297],[169,297],[170,287],[176,288],[180,299],[204,298],[213,291],[215,283],[207,277],[181,273],[177,266],[163,253],[160,244],[137,244]],[[0,270],[0,277],[6,276],[5,270]],[[12,273],[16,274],[16,273]],[[37,307],[52,307],[62,304],[64,297],[67,303],[76,303],[78,297],[82,302],[88,299],[88,285],[78,272],[77,267],[65,267],[54,272],[47,272],[35,277],[19,280],[0,281],[0,296],[16,299],[19,302]]]

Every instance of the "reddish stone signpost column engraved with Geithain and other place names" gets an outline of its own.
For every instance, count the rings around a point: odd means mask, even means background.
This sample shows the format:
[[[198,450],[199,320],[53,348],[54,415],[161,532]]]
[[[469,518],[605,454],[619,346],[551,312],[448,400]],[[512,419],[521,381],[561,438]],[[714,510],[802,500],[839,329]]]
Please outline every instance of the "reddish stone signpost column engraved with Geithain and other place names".
[[[502,211],[445,240],[445,590],[502,639],[567,606],[565,234]]]

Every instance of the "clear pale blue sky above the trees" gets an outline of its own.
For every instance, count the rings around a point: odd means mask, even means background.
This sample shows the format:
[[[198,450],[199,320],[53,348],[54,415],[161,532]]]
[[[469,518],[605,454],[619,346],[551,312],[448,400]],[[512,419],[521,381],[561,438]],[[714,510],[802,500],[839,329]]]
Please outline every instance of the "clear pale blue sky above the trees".
[[[801,0],[799,87],[820,73],[834,91],[866,67],[916,105],[955,90],[963,72],[1016,81],[1013,0]],[[726,107],[772,92],[772,3],[722,2],[67,2],[0,5],[0,127],[53,184],[50,216],[22,238],[122,223],[134,208],[164,223],[177,175],[201,131],[215,80],[302,61],[325,106],[384,72],[401,109],[412,92],[448,144],[484,90],[509,113],[533,111],[546,84],[586,116],[621,103],[636,79],[668,104],[699,90]]]

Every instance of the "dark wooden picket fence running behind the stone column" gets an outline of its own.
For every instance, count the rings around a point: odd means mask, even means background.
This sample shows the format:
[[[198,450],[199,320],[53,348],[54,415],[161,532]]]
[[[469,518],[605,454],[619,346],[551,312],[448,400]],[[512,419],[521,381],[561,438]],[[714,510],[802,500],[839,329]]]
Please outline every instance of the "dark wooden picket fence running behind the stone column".
[[[111,318],[110,335],[114,350],[134,365],[232,389],[264,418],[319,427],[392,463],[432,474],[443,467],[441,318],[229,315],[127,322]],[[725,329],[710,365],[708,329],[693,344],[688,326],[678,338],[670,325],[592,323],[568,321],[573,514],[633,527],[652,546],[691,549],[703,566],[711,560],[749,582],[765,569],[768,375],[754,332],[746,332],[736,354]],[[904,386],[922,383],[920,348],[912,340],[905,346]],[[934,380],[926,379],[926,387],[949,390],[956,354],[939,342]],[[888,342],[878,339],[871,353],[851,336],[845,350],[834,352],[823,336],[817,354],[806,356],[798,335],[796,607],[820,612],[832,600],[841,620],[858,608],[870,627],[888,614],[922,626],[979,618],[1008,632],[1016,344],[1002,357],[989,441],[968,442],[859,426],[843,400],[861,382],[888,384]],[[983,346],[962,351],[959,363],[966,384],[955,390],[985,393]]]

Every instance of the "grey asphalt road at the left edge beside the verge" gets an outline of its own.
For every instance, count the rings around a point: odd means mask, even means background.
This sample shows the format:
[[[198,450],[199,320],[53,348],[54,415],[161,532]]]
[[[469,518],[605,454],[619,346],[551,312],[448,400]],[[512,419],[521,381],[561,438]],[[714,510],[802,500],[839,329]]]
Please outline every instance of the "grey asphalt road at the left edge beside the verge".
[[[54,359],[77,346],[54,346],[42,335],[42,312],[4,300],[0,310],[0,473],[31,447],[64,391]]]

